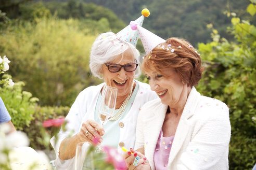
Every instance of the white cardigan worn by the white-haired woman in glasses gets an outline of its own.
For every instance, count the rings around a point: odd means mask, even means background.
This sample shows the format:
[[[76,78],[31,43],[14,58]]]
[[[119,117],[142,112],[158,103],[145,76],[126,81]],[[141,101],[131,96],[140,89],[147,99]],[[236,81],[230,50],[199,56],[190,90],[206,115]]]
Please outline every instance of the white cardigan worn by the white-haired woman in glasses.
[[[157,98],[155,92],[150,90],[150,87],[146,83],[139,82],[135,80],[138,84],[138,92],[134,99],[133,105],[130,111],[125,115],[125,117],[119,122],[123,122],[123,128],[120,128],[120,138],[119,143],[123,142],[124,147],[126,148],[134,148],[135,144],[135,133],[136,133],[136,123],[137,123],[137,116],[140,110],[146,102]],[[61,161],[58,158],[58,152],[60,143],[63,139],[68,137],[70,134],[75,135],[80,132],[82,123],[88,119],[94,120],[95,118],[95,107],[97,103],[97,99],[99,96],[99,92],[101,88],[104,86],[105,83],[101,83],[98,86],[91,86],[84,89],[76,100],[72,107],[70,108],[69,114],[67,115],[66,119],[68,121],[66,128],[67,131],[63,132],[60,130],[58,133],[59,140],[55,143],[55,138],[53,137],[50,140],[55,153],[56,153],[56,160],[55,166],[58,170],[61,169],[73,169],[73,162],[74,158],[66,161]],[[71,133],[73,131],[73,133]],[[105,134],[107,135],[107,134]],[[122,152],[120,146],[117,146],[118,152]]]

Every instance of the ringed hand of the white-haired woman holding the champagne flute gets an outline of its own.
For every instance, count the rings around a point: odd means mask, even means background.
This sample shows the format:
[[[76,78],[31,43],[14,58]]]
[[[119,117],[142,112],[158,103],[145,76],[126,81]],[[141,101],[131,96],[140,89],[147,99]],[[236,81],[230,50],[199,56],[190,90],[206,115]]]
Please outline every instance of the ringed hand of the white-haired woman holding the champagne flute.
[[[92,144],[101,143],[102,137],[105,134],[103,127],[94,120],[86,120],[83,122],[81,130],[79,132],[80,140],[88,141]],[[97,141],[95,141],[97,140]]]

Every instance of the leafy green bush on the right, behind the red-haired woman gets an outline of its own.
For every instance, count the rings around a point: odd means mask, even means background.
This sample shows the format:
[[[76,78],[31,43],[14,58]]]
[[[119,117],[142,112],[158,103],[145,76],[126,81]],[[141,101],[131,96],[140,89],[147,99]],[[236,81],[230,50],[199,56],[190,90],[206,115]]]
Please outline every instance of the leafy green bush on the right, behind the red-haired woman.
[[[247,11],[255,17],[256,5],[251,3]],[[202,60],[207,62],[197,89],[229,107],[229,169],[252,169],[256,163],[256,28],[250,20],[238,17],[231,22],[228,31],[234,41],[221,38],[212,28],[213,41],[199,44]]]

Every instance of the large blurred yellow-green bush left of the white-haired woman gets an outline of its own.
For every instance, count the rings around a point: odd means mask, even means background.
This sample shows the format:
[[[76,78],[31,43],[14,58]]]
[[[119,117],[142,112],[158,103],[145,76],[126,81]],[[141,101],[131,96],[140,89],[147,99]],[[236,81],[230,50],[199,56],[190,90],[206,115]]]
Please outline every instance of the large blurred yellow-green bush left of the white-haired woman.
[[[82,89],[98,81],[89,72],[89,51],[95,35],[79,20],[43,18],[10,26],[0,38],[14,81],[43,105],[71,105]]]

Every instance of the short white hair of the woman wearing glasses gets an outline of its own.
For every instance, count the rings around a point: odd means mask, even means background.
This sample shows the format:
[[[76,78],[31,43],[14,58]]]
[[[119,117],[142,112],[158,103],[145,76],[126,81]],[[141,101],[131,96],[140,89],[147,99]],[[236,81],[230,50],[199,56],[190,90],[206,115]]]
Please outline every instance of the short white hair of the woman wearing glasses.
[[[102,65],[111,62],[116,56],[123,54],[126,50],[130,50],[139,64],[139,52],[138,50],[127,41],[120,40],[116,34],[112,32],[100,34],[94,41],[90,54],[91,72],[93,76],[100,79],[103,78],[101,75]],[[122,60],[122,59],[121,59]],[[140,75],[140,68],[137,67],[135,71],[135,77]]]

